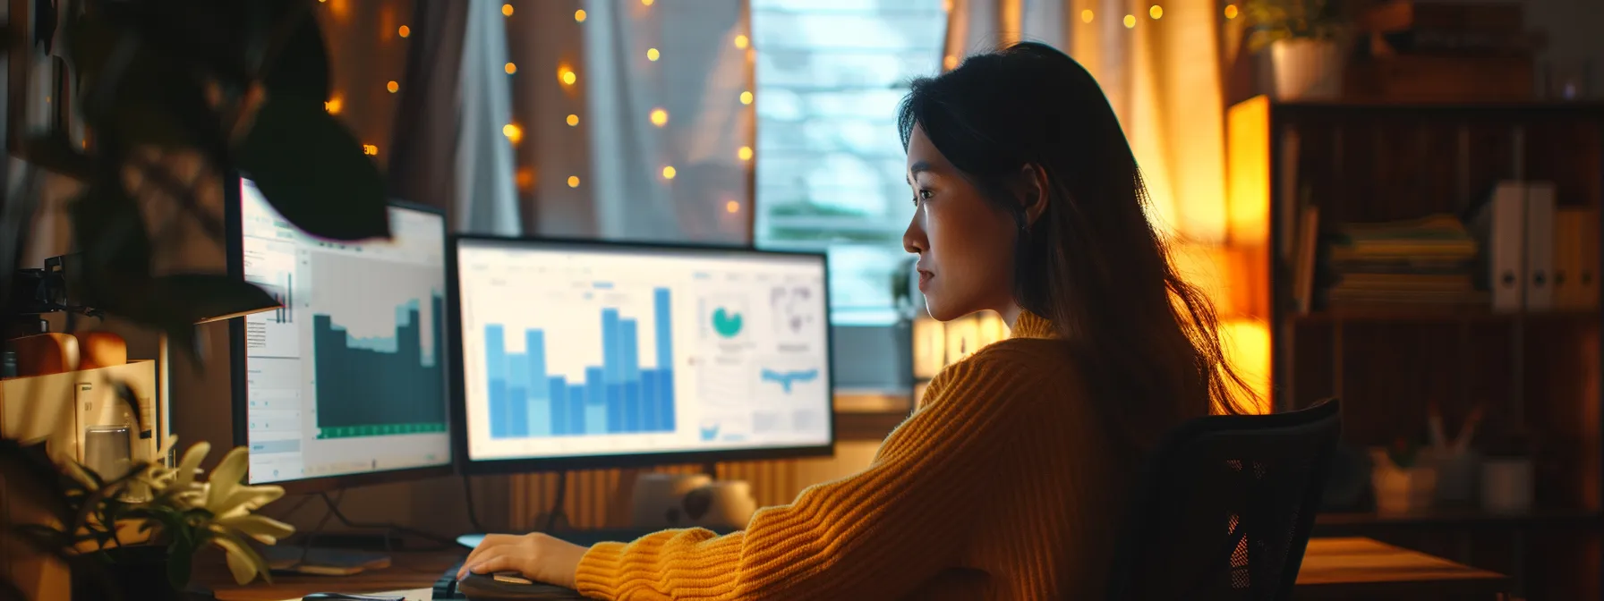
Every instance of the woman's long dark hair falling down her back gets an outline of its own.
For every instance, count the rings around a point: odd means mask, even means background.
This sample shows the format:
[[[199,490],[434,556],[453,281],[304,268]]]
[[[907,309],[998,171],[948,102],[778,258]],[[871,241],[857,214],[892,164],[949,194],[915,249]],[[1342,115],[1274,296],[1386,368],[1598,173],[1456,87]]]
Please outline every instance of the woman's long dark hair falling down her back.
[[[1176,272],[1147,220],[1147,188],[1097,80],[1052,46],[1015,43],[913,82],[903,149],[917,125],[1020,224],[1014,298],[1075,346],[1092,393],[1139,444],[1182,420],[1245,413],[1208,298]],[[1017,183],[1046,175],[1028,223]]]

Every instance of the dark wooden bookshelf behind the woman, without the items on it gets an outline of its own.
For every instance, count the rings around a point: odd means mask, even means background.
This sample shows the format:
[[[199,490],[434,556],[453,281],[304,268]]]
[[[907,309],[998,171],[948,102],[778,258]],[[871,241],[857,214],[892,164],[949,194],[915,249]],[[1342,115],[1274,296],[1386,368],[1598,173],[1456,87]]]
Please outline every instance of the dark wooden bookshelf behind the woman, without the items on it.
[[[1453,430],[1480,407],[1471,447],[1522,441],[1522,449],[1533,449],[1529,511],[1482,511],[1472,503],[1379,514],[1368,495],[1357,495],[1328,503],[1317,534],[1375,535],[1503,571],[1533,599],[1601,598],[1604,319],[1596,298],[1495,309],[1484,277],[1489,244],[1474,218],[1501,181],[1553,183],[1556,215],[1585,215],[1572,221],[1580,223],[1574,226],[1580,234],[1564,234],[1572,242],[1562,252],[1593,255],[1590,269],[1596,269],[1596,240],[1604,232],[1598,216],[1604,103],[1275,103],[1261,96],[1232,106],[1227,130],[1233,220],[1258,212],[1267,221],[1261,244],[1272,405],[1290,410],[1343,397],[1344,444],[1357,450],[1420,438],[1432,405]],[[1476,237],[1477,253],[1466,268],[1474,276],[1471,290],[1378,295],[1386,300],[1363,303],[1352,301],[1352,290],[1331,293],[1338,282],[1362,280],[1344,271],[1351,268],[1341,256],[1352,253],[1333,252],[1359,245],[1352,232],[1365,229],[1352,224],[1429,216],[1453,216]],[[1575,236],[1591,240],[1580,247],[1591,253],[1575,250]],[[1456,277],[1412,279],[1410,285],[1458,285],[1448,284]],[[1432,301],[1421,300],[1428,296]],[[1368,489],[1367,470],[1351,470],[1347,478],[1363,478]]]

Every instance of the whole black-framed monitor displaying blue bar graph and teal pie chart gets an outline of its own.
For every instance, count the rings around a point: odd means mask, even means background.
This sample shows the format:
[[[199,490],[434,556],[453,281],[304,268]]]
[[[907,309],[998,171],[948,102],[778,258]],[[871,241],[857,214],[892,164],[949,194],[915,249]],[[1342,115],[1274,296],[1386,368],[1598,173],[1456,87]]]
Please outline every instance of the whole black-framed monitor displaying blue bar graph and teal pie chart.
[[[465,473],[834,450],[824,255],[456,237]]]

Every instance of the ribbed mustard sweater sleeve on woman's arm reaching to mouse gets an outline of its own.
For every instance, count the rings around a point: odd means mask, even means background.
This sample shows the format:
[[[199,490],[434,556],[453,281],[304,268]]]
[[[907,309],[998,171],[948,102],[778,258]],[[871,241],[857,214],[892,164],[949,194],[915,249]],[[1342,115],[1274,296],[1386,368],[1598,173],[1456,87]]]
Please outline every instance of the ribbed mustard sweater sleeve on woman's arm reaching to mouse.
[[[945,567],[983,511],[988,474],[1030,423],[1035,370],[996,346],[948,367],[865,471],[757,511],[744,532],[664,530],[592,547],[579,591],[600,599],[900,598]]]

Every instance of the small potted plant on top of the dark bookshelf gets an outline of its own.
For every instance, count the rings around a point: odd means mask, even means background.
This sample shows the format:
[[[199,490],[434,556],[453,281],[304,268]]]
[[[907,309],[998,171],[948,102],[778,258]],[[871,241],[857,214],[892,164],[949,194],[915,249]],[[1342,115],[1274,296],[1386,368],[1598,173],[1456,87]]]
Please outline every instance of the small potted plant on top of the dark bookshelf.
[[[1243,3],[1246,43],[1270,50],[1277,99],[1335,99],[1343,93],[1343,37],[1347,22],[1339,0],[1248,0]]]

